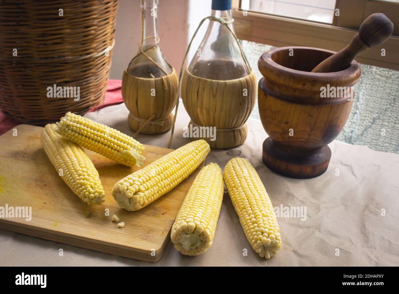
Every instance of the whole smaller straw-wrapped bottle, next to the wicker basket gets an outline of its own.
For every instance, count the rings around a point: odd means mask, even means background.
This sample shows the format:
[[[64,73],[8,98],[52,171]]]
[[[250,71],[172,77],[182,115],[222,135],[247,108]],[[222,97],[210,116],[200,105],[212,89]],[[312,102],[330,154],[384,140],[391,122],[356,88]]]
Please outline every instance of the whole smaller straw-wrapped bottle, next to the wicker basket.
[[[170,130],[178,77],[159,46],[158,0],[140,0],[141,30],[136,56],[123,72],[122,97],[128,124],[140,134]],[[143,53],[143,52],[144,53]]]

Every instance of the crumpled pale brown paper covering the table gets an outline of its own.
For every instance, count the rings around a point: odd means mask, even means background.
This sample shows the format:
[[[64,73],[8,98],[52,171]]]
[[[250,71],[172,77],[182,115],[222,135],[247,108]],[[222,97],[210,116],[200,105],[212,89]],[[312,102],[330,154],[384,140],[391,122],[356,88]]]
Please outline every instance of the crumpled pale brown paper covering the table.
[[[132,135],[127,115],[128,110],[120,104],[85,117]],[[180,101],[171,148],[190,142],[183,138],[183,127],[189,121]],[[184,256],[170,242],[159,262],[148,263],[0,230],[0,265],[399,266],[399,154],[334,141],[329,145],[330,165],[323,175],[291,179],[263,164],[262,143],[267,134],[261,122],[248,120],[247,125],[248,137],[243,145],[211,150],[207,163],[216,162],[223,170],[229,159],[247,158],[259,173],[273,206],[306,208],[306,220],[278,218],[282,248],[270,260],[253,251],[225,193],[213,245],[199,256]],[[136,139],[166,147],[169,134],[139,134]],[[385,216],[381,215],[383,210]],[[63,248],[63,256],[59,256],[59,248]]]

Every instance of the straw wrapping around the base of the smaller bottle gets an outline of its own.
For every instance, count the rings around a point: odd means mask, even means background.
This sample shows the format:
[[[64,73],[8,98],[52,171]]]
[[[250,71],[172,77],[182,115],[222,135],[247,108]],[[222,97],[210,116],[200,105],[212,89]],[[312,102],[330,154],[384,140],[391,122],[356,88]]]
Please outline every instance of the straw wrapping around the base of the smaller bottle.
[[[172,128],[179,80],[176,71],[159,78],[139,78],[126,69],[122,78],[123,102],[129,110],[128,124],[140,134],[160,134]],[[146,124],[146,121],[150,119]],[[144,128],[142,128],[144,126]]]

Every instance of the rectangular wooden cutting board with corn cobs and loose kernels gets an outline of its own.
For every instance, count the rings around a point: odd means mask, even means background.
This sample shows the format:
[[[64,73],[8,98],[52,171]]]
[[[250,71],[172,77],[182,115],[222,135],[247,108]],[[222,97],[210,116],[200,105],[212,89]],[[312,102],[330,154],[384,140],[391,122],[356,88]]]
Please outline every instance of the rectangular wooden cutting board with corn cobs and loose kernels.
[[[106,197],[89,206],[58,176],[40,144],[43,128],[21,124],[0,136],[0,206],[32,207],[32,220],[0,218],[0,228],[73,246],[144,260],[158,261],[170,228],[199,168],[169,193],[145,208],[128,212],[111,195],[114,184],[139,168],[117,164],[85,150],[99,171]],[[172,149],[145,145],[144,166]],[[106,216],[109,209],[109,216]],[[123,228],[111,217],[116,214]]]

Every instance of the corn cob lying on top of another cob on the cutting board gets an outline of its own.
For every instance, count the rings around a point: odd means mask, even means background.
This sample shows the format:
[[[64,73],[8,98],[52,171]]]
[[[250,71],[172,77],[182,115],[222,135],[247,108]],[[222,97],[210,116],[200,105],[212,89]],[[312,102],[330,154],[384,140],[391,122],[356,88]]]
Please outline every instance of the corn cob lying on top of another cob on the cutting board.
[[[55,131],[80,146],[126,166],[141,166],[144,146],[132,137],[104,124],[67,112]]]

